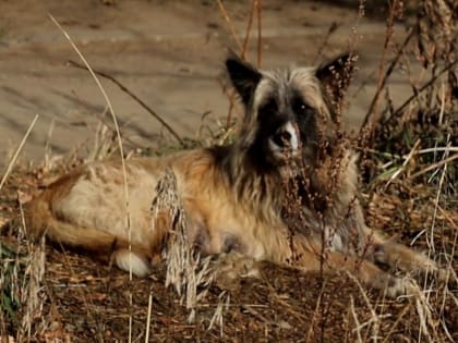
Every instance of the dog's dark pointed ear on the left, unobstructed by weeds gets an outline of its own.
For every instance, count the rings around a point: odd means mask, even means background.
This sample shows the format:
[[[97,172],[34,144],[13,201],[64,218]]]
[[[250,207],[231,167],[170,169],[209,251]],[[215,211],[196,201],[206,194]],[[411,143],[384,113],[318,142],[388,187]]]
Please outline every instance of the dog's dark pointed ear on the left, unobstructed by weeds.
[[[232,86],[242,98],[245,106],[249,105],[254,89],[262,78],[261,72],[250,63],[240,59],[234,52],[230,51],[226,60],[226,69],[228,71]]]

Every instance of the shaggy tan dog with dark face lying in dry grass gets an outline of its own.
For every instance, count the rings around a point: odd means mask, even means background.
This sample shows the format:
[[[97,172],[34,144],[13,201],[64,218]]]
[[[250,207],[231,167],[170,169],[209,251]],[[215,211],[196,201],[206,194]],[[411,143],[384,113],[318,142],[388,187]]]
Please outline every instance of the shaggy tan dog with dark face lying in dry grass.
[[[357,155],[339,133],[353,64],[347,54],[318,68],[261,71],[230,54],[226,70],[244,108],[233,143],[124,166],[89,163],[28,204],[27,232],[145,277],[173,220],[168,211],[153,220],[150,211],[158,180],[169,170],[186,238],[200,254],[343,270],[388,296],[411,292],[406,278],[378,265],[423,273],[439,268],[364,223]]]

